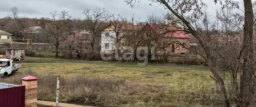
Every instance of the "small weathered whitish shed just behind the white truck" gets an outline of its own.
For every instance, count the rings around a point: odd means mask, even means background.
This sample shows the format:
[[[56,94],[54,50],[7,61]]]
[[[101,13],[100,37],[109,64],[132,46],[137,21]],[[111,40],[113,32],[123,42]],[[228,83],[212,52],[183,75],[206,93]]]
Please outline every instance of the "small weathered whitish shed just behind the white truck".
[[[10,57],[11,59],[17,57],[18,59],[25,58],[25,51],[21,48],[16,49],[6,49],[6,57]]]

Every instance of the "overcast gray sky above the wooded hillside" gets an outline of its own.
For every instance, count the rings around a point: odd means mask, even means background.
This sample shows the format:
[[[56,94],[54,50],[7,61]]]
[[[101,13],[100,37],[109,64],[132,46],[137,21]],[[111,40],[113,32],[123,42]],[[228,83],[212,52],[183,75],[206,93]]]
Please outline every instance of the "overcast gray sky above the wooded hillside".
[[[209,12],[215,12],[214,0],[203,0],[207,3]],[[131,10],[124,0],[0,0],[0,18],[11,14],[10,8],[19,8],[19,17],[40,18],[49,17],[49,13],[53,10],[68,10],[73,18],[85,18],[82,13],[83,9],[94,9],[97,7],[107,8],[109,12],[119,13],[127,18],[131,18],[134,14],[136,20],[146,20],[148,14],[161,14],[164,8],[159,3],[149,5],[148,0],[141,0]]]

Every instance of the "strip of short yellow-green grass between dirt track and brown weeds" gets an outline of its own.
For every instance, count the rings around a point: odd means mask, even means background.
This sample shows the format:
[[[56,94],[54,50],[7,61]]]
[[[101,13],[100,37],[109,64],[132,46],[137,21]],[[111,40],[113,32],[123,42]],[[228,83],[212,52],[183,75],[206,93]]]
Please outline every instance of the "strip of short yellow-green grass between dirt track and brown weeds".
[[[161,85],[180,91],[186,85],[192,86],[188,91],[194,91],[196,78],[201,75],[207,79],[211,72],[196,70],[181,70],[176,68],[114,66],[83,63],[23,63],[21,72],[31,70],[38,74],[83,75],[88,78],[125,79],[131,83]],[[213,81],[210,83],[214,84]],[[180,86],[184,85],[184,86]]]

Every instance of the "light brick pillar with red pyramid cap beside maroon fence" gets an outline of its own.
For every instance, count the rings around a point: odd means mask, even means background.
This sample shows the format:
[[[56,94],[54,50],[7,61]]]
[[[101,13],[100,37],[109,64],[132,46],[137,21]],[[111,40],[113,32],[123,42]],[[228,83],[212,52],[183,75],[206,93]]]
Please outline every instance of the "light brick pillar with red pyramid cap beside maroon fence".
[[[25,107],[37,107],[37,79],[27,76],[22,79],[22,85],[25,85]]]

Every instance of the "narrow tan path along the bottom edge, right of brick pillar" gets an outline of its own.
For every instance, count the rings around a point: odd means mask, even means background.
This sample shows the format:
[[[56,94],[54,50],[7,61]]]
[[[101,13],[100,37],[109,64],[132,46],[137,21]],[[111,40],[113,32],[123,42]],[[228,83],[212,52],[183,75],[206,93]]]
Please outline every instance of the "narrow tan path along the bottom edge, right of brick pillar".
[[[51,102],[51,101],[37,100],[37,104],[56,106],[56,102]],[[66,103],[59,103],[59,106],[60,107],[96,107],[96,106],[82,106],[82,105],[66,104]]]

